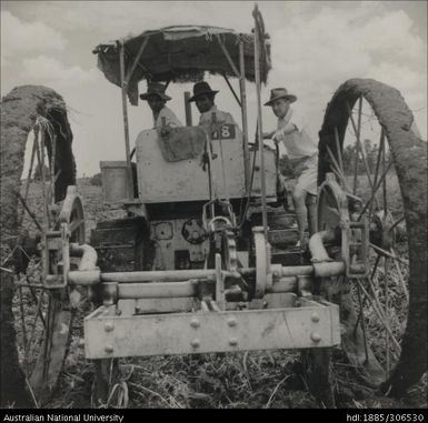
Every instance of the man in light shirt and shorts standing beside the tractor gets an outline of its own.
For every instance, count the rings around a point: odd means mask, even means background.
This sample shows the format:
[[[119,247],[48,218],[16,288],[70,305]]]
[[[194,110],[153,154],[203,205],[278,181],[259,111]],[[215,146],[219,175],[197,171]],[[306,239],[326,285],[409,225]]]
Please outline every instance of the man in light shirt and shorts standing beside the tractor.
[[[309,137],[301,118],[291,108],[297,97],[288,93],[285,88],[270,91],[270,99],[265,105],[272,108],[278,118],[277,130],[263,133],[265,139],[282,142],[295,172],[297,183],[292,200],[299,225],[300,245],[305,244],[305,226],[309,221],[309,233],[316,231],[316,199],[318,178],[318,145]]]

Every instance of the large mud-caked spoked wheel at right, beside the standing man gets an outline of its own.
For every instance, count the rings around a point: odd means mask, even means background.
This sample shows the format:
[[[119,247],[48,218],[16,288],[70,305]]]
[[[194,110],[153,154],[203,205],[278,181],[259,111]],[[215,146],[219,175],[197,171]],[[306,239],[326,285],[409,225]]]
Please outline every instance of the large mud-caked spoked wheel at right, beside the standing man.
[[[342,348],[357,373],[390,395],[427,370],[427,143],[412,119],[397,90],[349,80],[328,104],[319,143],[318,184],[331,172],[345,198],[321,191],[318,230],[340,231],[344,204],[351,222],[369,228],[367,274],[332,281]]]

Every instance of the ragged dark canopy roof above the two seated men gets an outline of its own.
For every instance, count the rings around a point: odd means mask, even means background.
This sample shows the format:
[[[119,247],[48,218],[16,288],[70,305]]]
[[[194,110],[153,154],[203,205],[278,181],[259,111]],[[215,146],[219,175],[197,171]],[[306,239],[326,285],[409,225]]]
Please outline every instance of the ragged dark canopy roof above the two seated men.
[[[268,39],[269,36],[265,36],[260,46],[259,69],[262,82],[267,81],[271,68]],[[253,34],[218,27],[177,26],[125,38],[125,73],[128,74],[135,68],[128,80],[131,104],[138,104],[138,82],[143,79],[196,82],[203,79],[206,71],[211,74],[237,77],[236,71],[240,69],[240,41],[243,49],[245,77],[255,81]],[[99,44],[93,50],[98,56],[98,68],[110,82],[121,87],[119,52],[119,42]],[[136,59],[138,61],[133,67]]]

